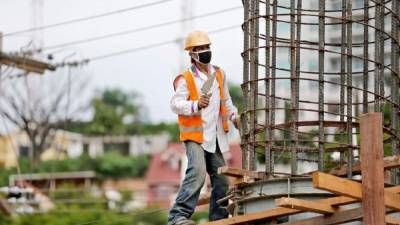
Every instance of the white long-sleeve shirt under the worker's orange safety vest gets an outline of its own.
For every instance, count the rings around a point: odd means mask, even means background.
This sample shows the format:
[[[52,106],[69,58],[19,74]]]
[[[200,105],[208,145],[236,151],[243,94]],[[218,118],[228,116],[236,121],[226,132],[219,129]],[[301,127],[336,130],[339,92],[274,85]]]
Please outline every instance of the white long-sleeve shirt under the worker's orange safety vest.
[[[201,87],[207,81],[208,76],[198,70],[195,66],[189,68],[193,74],[193,78],[196,84],[197,92],[201,96]],[[194,71],[193,71],[194,70]],[[210,66],[210,74],[214,73],[215,69]],[[237,109],[232,103],[231,96],[229,94],[228,85],[226,84],[226,78],[224,72],[221,70],[224,83],[224,94],[225,104],[228,111],[228,118],[232,119],[237,114]],[[197,103],[198,101],[188,100],[189,90],[186,85],[186,81],[183,77],[176,81],[175,94],[171,99],[170,105],[174,113],[179,115],[192,115],[198,113]],[[201,109],[201,118],[203,120],[203,143],[202,147],[204,150],[214,153],[216,150],[216,142],[218,140],[219,148],[221,152],[229,150],[228,135],[225,133],[222,119],[219,115],[220,109],[220,95],[219,85],[217,79],[214,79],[213,86],[211,88],[212,95],[210,97],[210,103],[206,108]]]

